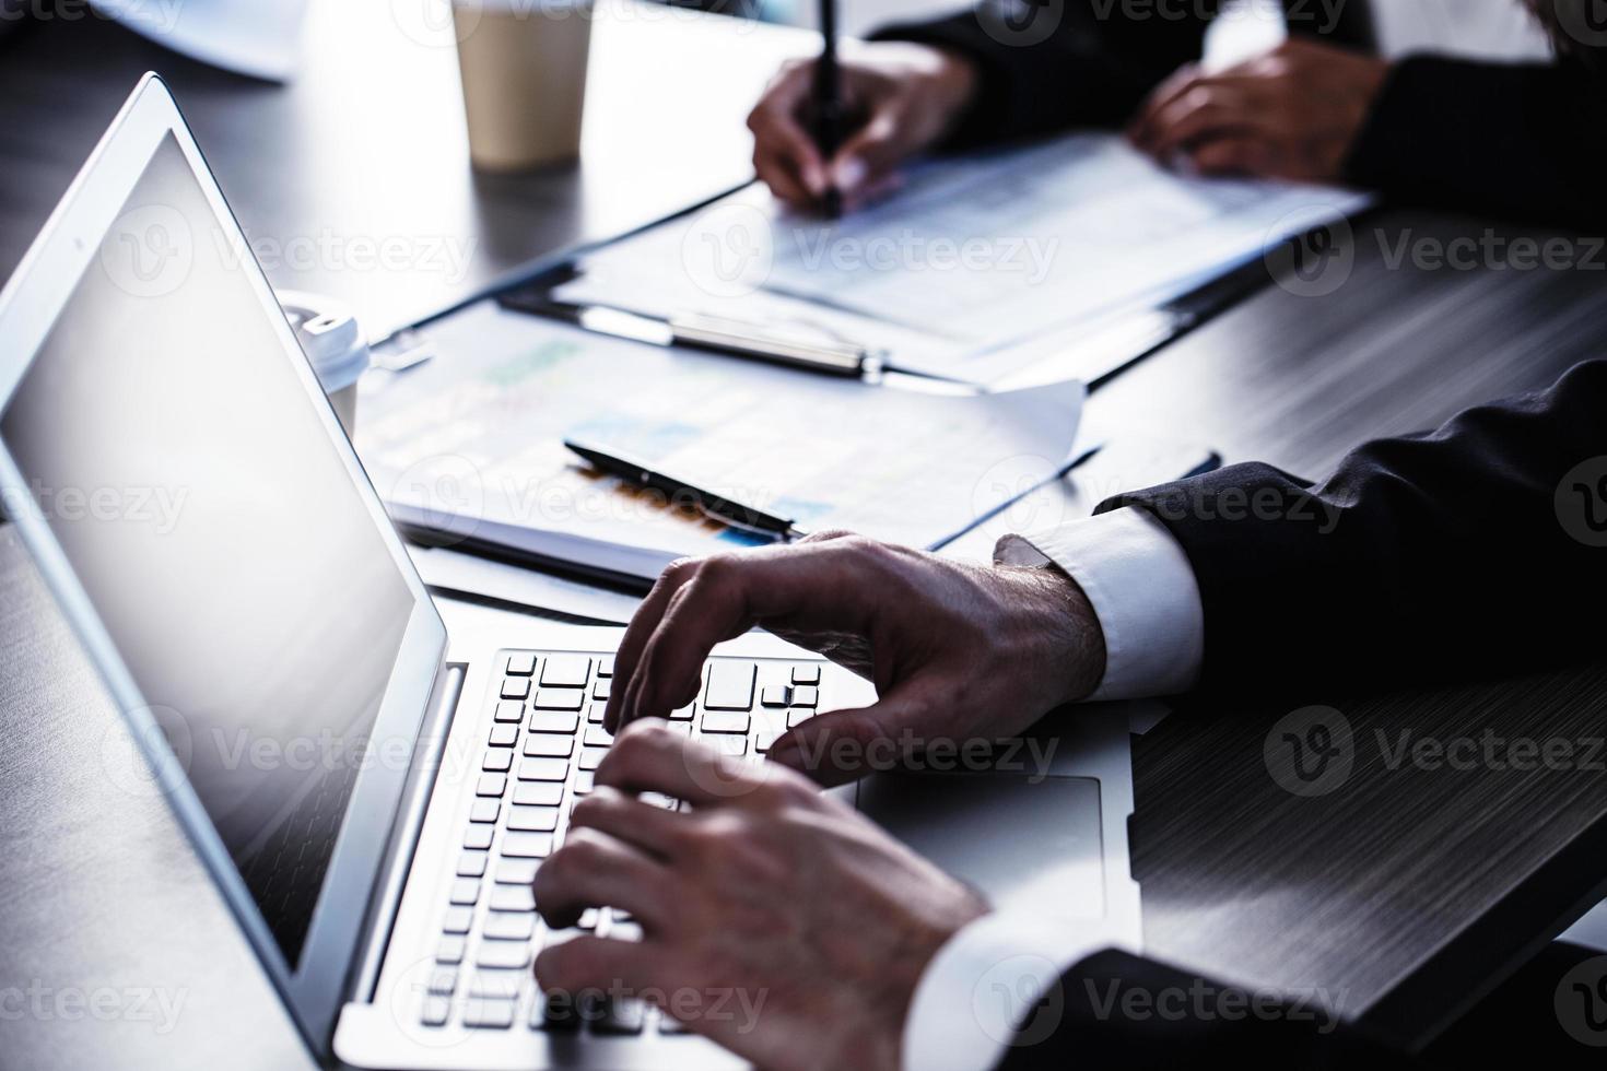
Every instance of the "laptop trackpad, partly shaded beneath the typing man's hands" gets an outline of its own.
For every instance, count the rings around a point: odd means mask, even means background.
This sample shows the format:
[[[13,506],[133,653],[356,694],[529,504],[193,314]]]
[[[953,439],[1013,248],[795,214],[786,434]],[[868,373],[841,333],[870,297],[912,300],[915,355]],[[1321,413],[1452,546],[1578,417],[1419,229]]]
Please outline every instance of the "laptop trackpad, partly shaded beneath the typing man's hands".
[[[1106,914],[1093,777],[876,774],[855,803],[995,907]]]

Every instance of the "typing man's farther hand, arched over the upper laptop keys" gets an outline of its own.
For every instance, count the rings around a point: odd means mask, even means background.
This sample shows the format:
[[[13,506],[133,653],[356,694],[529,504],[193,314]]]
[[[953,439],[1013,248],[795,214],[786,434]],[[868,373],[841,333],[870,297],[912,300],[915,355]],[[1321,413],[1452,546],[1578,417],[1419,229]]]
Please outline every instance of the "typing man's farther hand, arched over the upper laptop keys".
[[[620,641],[606,726],[693,702],[710,649],[755,625],[876,684],[876,705],[810,718],[771,747],[771,759],[824,782],[865,772],[876,739],[1016,735],[1104,676],[1099,621],[1064,573],[821,533],[670,565]],[[844,766],[844,751],[858,763]]]

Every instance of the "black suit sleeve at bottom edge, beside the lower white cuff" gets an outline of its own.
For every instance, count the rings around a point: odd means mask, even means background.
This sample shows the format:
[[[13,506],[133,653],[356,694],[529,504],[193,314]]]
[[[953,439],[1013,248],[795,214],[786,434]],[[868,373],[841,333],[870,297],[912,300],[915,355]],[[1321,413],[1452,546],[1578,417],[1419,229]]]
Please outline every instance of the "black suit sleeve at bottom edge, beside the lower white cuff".
[[[1000,1068],[1411,1066],[1406,1057],[1343,1024],[1342,1010],[1342,994],[1273,999],[1125,952],[1099,952],[1045,994]]]

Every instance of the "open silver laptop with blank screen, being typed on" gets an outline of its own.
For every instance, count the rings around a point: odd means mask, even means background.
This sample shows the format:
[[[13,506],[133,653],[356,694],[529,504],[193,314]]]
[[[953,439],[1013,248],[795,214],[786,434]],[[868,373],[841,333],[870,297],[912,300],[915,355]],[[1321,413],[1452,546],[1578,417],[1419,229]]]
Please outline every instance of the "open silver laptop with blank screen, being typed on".
[[[537,991],[574,931],[530,882],[607,755],[620,629],[431,597],[156,75],[0,292],[0,490],[317,1061],[739,1065],[632,994]],[[669,724],[763,761],[873,697],[755,633]],[[993,902],[1136,946],[1127,715],[1035,734],[837,792]],[[579,930],[652,939],[607,906]]]

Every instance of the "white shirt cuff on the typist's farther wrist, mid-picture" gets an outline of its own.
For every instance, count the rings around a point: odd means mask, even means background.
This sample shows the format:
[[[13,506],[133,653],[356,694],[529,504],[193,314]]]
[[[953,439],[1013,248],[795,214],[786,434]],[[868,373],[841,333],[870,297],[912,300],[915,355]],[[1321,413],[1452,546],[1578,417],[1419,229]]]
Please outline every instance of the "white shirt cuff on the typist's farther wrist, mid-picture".
[[[1001,565],[1054,562],[1088,596],[1106,641],[1090,700],[1175,695],[1205,657],[1205,610],[1188,556],[1149,512],[1127,506],[1030,536],[1000,540]]]

